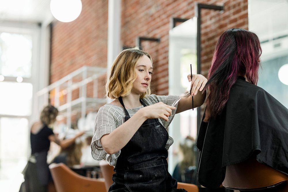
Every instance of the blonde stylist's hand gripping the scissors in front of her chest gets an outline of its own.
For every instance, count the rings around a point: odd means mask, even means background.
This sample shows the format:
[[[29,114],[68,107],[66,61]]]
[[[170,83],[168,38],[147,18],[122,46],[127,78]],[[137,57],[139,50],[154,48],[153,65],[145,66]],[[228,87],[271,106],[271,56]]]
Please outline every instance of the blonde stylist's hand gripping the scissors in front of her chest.
[[[149,105],[147,107],[143,107],[140,110],[143,111],[147,119],[162,118],[165,121],[168,121],[168,117],[172,115],[172,109],[176,109],[176,107],[172,107],[162,102],[159,102],[153,105]]]

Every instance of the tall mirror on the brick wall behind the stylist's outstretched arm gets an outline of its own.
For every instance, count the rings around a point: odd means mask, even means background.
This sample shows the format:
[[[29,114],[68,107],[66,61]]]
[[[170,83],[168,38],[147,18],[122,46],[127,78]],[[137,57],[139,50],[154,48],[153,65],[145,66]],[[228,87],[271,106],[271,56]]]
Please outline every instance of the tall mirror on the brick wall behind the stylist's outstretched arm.
[[[187,75],[190,74],[190,64],[192,64],[192,73],[197,73],[196,42],[196,17],[177,25],[169,31],[168,71],[170,95],[183,95],[187,90],[190,90],[190,82],[188,82]],[[187,161],[185,162],[186,169],[195,169],[197,164],[197,150],[194,146],[197,139],[197,109],[176,114],[169,126],[169,135],[174,139],[168,155],[170,174],[173,174],[177,165],[177,168],[179,168],[179,163],[183,159]],[[188,138],[193,138],[194,140]],[[173,176],[175,177],[175,173]],[[181,181],[184,182],[183,179]]]

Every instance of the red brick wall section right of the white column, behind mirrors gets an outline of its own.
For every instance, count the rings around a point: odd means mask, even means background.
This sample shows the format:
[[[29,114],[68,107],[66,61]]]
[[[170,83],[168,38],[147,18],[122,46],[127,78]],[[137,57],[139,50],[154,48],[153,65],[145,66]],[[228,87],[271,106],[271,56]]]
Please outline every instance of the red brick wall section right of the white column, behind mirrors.
[[[202,74],[207,75],[217,39],[228,28],[248,29],[247,0],[207,0],[199,3],[222,5],[224,12],[201,9]],[[138,36],[160,38],[160,43],[143,42],[142,47],[154,59],[152,88],[159,95],[168,94],[168,34],[170,18],[192,18],[195,1],[158,0],[122,1],[122,33],[124,45],[136,45]]]

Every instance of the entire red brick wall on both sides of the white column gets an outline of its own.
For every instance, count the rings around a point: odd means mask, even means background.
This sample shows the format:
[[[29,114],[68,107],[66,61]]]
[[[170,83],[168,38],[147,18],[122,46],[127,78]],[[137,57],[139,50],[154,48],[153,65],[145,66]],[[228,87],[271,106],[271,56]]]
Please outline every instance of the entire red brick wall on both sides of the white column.
[[[228,28],[248,28],[248,0],[199,0],[222,5],[224,11],[202,9],[202,74],[207,75],[217,39]],[[135,46],[138,36],[160,38],[160,43],[143,41],[154,59],[153,93],[168,94],[168,33],[170,18],[192,18],[192,0],[122,0],[122,45]],[[73,22],[52,26],[51,76],[53,83],[81,66],[107,66],[108,0],[82,0],[82,13]],[[98,83],[103,95],[104,77]],[[88,86],[92,95],[92,86]],[[77,91],[76,91],[77,92]],[[77,98],[77,93],[73,95]]]

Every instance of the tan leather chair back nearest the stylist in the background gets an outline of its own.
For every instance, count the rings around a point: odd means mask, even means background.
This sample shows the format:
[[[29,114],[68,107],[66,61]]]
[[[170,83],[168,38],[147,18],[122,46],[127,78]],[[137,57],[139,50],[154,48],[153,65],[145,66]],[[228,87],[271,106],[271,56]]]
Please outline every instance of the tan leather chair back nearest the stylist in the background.
[[[57,192],[106,192],[104,180],[81,176],[63,163],[49,165]]]

